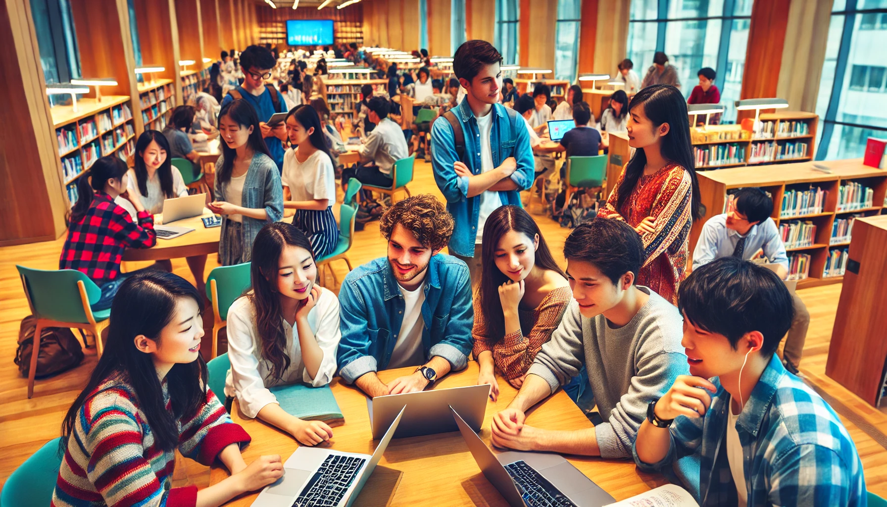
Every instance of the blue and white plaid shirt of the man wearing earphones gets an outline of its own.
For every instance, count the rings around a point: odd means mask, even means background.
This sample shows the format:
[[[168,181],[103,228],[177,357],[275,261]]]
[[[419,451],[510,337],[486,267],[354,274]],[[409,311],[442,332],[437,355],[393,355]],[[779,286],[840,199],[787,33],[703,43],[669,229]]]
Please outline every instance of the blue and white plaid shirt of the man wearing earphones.
[[[730,394],[718,392],[704,417],[679,416],[671,424],[671,447],[663,461],[634,462],[644,471],[663,471],[682,456],[700,455],[702,507],[736,505],[726,453]],[[865,506],[866,481],[860,455],[834,410],[791,375],[773,354],[736,421],[742,442],[749,505]],[[635,444],[637,445],[637,444]]]

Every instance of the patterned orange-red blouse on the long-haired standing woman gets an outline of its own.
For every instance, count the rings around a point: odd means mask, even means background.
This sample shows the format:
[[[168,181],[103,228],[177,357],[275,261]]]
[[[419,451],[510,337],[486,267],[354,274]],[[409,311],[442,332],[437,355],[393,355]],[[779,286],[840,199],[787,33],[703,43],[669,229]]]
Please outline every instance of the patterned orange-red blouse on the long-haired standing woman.
[[[637,283],[677,305],[678,288],[686,276],[693,181],[683,167],[674,162],[666,163],[654,174],[642,175],[623,209],[616,210],[619,192],[626,191],[622,188],[624,179],[623,167],[616,187],[609,194],[607,204],[598,211],[598,217],[623,220],[632,227],[637,227],[644,218],[655,218],[655,233],[640,235],[647,260],[640,268]]]

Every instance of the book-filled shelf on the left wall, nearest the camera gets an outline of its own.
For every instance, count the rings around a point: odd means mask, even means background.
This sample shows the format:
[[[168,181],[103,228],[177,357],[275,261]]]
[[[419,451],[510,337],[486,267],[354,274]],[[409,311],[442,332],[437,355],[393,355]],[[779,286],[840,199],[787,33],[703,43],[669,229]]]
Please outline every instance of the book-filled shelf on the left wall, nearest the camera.
[[[98,157],[116,154],[126,160],[136,148],[129,96],[106,95],[101,102],[80,99],[77,109],[76,113],[71,106],[50,109],[68,206],[77,202],[77,179]]]

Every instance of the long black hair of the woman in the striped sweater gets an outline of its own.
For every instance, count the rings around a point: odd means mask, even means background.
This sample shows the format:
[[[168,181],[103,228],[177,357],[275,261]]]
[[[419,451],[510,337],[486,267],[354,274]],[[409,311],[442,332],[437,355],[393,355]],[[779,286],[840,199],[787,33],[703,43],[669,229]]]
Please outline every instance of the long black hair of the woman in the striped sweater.
[[[158,340],[163,328],[176,316],[178,299],[183,297],[196,301],[202,313],[203,297],[177,274],[148,270],[133,274],[123,282],[111,305],[105,352],[61,424],[63,447],[67,448],[67,439],[74,432],[80,410],[90,395],[99,385],[119,376],[135,390],[137,406],[147,416],[155,445],[165,451],[176,448],[177,420],[194,416],[207,398],[207,364],[198,355],[197,360],[176,364],[169,370],[166,376],[172,405],[169,412],[151,354],[139,351],[135,338],[145,335]]]

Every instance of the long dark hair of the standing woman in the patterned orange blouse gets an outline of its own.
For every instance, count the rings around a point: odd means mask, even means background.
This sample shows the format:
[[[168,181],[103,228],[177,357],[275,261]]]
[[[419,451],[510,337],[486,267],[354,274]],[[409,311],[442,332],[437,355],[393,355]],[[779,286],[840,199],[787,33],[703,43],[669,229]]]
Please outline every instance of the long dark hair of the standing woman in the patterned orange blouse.
[[[653,84],[634,96],[628,106],[629,113],[638,106],[644,107],[644,115],[653,122],[655,128],[663,123],[669,124],[669,131],[662,138],[660,150],[666,160],[677,163],[690,174],[690,179],[693,181],[690,214],[694,220],[702,218],[699,207],[699,180],[696,179],[696,162],[693,145],[690,143],[690,122],[687,119],[687,102],[684,101],[684,96],[671,84]],[[628,197],[632,194],[634,186],[638,184],[640,175],[644,173],[645,165],[647,165],[647,154],[644,153],[644,148],[634,150],[634,156],[628,161],[625,178],[619,187],[616,210],[621,212],[624,203],[628,202]]]

